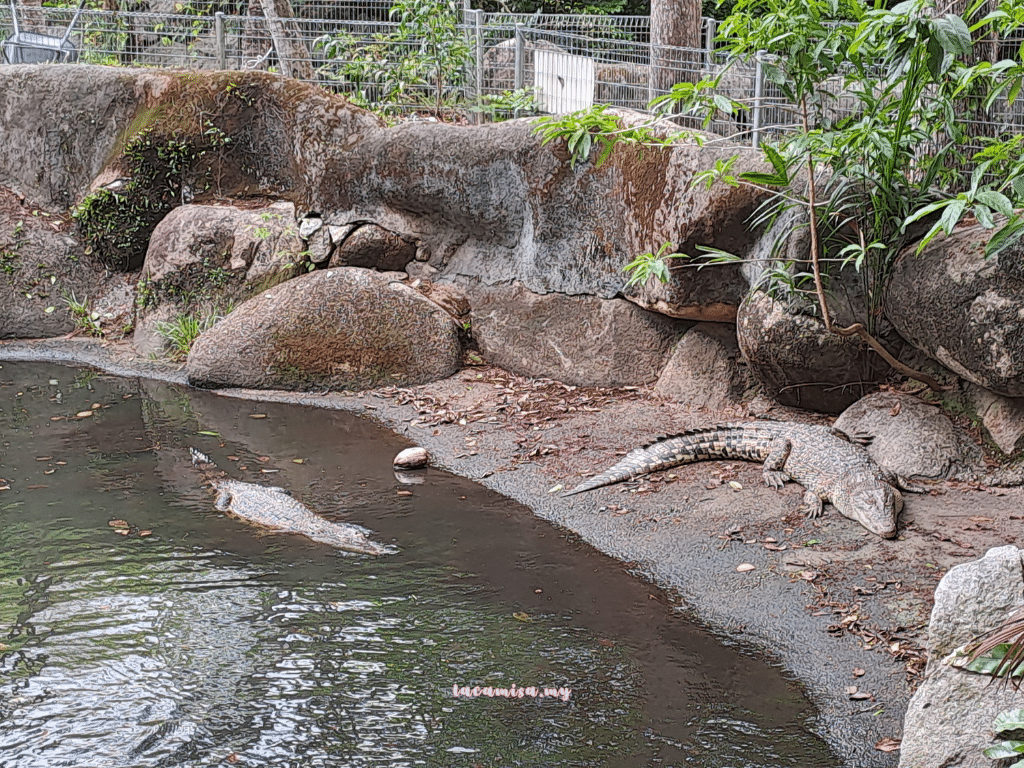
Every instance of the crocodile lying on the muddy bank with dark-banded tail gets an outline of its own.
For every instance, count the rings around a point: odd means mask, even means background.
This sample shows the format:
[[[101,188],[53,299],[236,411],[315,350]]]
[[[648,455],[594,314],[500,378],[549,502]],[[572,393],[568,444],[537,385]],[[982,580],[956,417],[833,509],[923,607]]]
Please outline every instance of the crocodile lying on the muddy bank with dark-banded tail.
[[[780,488],[786,480],[803,485],[802,511],[821,514],[831,502],[840,514],[884,539],[896,536],[903,490],[916,490],[882,469],[862,444],[838,429],[814,424],[757,421],[690,429],[630,452],[625,459],[563,496],[610,485],[680,464],[714,459],[764,462],[766,485]]]

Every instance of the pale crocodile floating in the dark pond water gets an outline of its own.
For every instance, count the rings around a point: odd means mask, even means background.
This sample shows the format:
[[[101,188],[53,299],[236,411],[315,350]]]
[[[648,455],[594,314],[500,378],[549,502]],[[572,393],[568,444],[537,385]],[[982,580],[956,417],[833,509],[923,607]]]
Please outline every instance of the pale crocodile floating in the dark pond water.
[[[246,522],[271,530],[300,534],[314,542],[346,552],[393,555],[398,551],[394,547],[371,541],[369,537],[373,531],[361,525],[325,520],[289,496],[284,488],[232,480],[206,454],[194,447],[189,452],[193,466],[199,468],[217,492],[214,506],[220,512],[227,512]]]

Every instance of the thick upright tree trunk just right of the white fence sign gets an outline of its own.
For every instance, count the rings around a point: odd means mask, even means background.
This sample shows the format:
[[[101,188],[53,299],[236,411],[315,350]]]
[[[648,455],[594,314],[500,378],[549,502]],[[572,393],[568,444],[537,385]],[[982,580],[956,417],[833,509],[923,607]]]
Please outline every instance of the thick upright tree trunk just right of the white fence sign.
[[[700,48],[700,0],[651,0],[650,82],[660,95],[681,82],[700,79],[702,54],[677,48]]]

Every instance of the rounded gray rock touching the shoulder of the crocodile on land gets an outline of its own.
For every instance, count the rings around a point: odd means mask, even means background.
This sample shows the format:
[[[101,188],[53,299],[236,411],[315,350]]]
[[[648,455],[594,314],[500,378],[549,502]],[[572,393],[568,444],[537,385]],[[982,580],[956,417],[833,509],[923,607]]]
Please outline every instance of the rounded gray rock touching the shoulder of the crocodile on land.
[[[876,392],[836,420],[849,435],[874,439],[867,452],[882,467],[904,477],[974,479],[982,453],[937,407],[900,392]]]

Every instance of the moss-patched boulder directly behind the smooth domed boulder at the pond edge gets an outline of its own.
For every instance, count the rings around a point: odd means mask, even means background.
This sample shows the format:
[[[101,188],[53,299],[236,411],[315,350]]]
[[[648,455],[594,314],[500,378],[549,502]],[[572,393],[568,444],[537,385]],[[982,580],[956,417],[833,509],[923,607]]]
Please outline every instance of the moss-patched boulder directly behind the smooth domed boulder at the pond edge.
[[[139,354],[169,347],[161,329],[178,317],[208,323],[233,305],[306,271],[295,206],[185,205],[153,230],[132,339]]]

